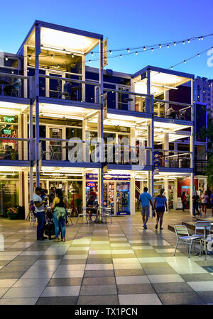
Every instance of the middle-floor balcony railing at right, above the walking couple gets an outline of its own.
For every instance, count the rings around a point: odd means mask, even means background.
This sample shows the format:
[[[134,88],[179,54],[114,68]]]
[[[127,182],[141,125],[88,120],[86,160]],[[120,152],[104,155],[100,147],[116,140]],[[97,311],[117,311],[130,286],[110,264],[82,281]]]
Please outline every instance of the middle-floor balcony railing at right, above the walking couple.
[[[170,168],[192,168],[192,152],[171,151],[171,150],[154,150],[158,153],[159,167]]]

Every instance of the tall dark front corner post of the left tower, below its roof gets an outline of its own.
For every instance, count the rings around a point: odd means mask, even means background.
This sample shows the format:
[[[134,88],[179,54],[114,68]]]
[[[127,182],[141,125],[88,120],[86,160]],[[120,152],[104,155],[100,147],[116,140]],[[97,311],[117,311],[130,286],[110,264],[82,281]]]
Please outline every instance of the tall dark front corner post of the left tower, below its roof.
[[[40,25],[35,24],[35,164],[36,186],[40,184],[39,172],[39,55],[40,55]]]

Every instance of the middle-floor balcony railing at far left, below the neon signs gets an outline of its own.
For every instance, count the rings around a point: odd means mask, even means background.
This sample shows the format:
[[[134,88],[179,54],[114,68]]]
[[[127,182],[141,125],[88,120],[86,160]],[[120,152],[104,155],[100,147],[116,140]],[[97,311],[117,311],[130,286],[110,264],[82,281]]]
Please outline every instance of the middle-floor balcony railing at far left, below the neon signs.
[[[27,138],[0,138],[1,160],[29,160],[30,140]]]

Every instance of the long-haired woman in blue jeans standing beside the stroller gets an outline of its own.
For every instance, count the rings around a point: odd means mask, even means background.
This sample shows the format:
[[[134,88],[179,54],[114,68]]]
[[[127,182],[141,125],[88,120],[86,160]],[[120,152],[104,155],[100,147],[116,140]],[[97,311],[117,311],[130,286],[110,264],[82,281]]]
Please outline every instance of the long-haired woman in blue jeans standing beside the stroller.
[[[59,236],[59,226],[61,228],[62,232],[62,241],[65,242],[65,220],[67,218],[66,209],[68,208],[68,203],[65,198],[62,196],[62,190],[56,189],[55,191],[55,198],[53,199],[53,218],[54,218],[54,224],[55,224],[55,240],[54,242],[58,242],[58,236]]]

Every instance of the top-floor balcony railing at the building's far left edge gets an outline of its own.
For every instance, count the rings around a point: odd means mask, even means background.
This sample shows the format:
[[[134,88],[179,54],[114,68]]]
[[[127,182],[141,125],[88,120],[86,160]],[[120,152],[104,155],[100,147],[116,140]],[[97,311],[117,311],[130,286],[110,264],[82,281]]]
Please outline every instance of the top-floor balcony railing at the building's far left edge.
[[[0,73],[0,96],[28,98],[30,95],[30,77],[18,74]]]

